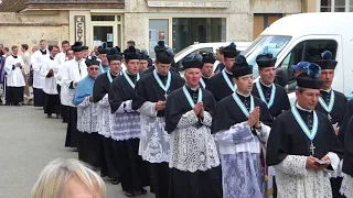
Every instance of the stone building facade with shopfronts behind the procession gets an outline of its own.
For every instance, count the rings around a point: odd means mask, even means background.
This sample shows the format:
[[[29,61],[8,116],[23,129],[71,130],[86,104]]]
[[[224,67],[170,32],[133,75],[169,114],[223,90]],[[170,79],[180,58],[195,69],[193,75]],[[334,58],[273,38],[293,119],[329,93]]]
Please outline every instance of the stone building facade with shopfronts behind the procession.
[[[317,0],[313,0],[317,1]],[[194,42],[253,41],[277,19],[311,11],[312,0],[2,0],[0,43],[81,40],[152,53],[159,40],[176,52]]]

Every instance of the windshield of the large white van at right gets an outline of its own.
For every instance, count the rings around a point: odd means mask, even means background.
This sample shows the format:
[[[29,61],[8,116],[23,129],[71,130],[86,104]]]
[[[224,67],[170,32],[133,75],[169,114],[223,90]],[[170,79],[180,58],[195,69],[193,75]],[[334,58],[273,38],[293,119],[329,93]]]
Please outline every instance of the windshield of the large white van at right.
[[[253,74],[255,78],[258,76],[256,57],[259,54],[264,53],[271,53],[274,57],[277,57],[290,40],[291,36],[263,35],[254,41],[254,43],[245,51],[244,54],[247,59],[247,63],[254,66]]]

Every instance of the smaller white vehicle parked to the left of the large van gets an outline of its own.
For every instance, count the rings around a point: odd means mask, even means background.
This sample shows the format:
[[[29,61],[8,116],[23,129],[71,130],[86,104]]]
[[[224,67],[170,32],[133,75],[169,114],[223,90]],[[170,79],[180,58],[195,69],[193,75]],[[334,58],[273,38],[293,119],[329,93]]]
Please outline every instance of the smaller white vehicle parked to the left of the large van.
[[[231,42],[193,44],[193,45],[190,45],[189,47],[180,51],[179,53],[176,53],[174,56],[174,61],[176,64],[179,64],[179,68],[182,68],[181,61],[184,57],[189,56],[190,54],[194,54],[194,53],[199,54],[199,52],[204,51],[204,52],[211,52],[215,55],[217,48],[220,48],[222,46],[227,46],[227,45],[229,45],[229,43]],[[240,51],[240,53],[244,53],[246,51],[246,48],[252,45],[252,42],[234,42],[234,43],[236,45],[236,48],[238,51]],[[213,69],[216,68],[218,63],[220,63],[218,61],[216,61],[214,63]]]

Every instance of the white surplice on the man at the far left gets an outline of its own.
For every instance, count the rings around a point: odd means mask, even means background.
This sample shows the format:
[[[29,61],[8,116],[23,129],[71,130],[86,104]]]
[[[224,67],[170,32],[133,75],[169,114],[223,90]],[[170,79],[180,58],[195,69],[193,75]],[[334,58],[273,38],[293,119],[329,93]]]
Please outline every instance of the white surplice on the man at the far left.
[[[24,78],[20,67],[17,67],[15,64],[20,63],[24,67],[24,63],[21,56],[14,58],[9,56],[6,61],[4,69],[7,72],[7,85],[9,87],[24,87]],[[14,66],[14,69],[13,69]]]

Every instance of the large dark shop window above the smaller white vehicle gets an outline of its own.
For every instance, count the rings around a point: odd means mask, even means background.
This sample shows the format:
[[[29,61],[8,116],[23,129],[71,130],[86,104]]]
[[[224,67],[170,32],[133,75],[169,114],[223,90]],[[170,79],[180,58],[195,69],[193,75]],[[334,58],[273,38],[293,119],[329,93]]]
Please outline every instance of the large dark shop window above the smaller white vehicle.
[[[225,18],[173,18],[172,24],[175,53],[194,43],[226,42]]]

